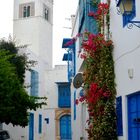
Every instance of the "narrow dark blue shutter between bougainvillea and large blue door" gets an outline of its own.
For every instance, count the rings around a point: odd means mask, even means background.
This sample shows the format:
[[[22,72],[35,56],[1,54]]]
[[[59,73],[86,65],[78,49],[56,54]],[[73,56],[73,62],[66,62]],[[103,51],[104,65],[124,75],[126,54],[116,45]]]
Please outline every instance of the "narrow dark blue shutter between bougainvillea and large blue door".
[[[117,114],[117,134],[123,136],[123,122],[122,122],[122,97],[116,99],[116,114]]]

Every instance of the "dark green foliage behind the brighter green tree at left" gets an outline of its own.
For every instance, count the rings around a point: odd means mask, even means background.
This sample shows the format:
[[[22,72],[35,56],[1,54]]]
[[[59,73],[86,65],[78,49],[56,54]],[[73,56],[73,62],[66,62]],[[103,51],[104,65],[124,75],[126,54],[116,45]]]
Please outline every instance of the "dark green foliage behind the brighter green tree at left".
[[[26,54],[18,54],[19,49],[25,47],[26,46],[16,47],[15,42],[10,40],[7,42],[5,40],[0,41],[0,50],[6,50],[9,55],[12,55],[9,61],[10,63],[14,64],[18,79],[20,80],[21,84],[24,83],[25,71],[30,69],[31,66],[34,66],[35,64],[35,61],[28,60]]]

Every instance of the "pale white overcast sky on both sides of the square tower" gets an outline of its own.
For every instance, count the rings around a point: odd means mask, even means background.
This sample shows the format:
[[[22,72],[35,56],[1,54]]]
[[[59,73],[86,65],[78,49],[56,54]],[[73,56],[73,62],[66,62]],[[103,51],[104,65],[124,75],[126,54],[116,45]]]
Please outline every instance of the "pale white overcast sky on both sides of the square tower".
[[[0,38],[8,38],[13,34],[13,1],[0,0]],[[76,13],[78,0],[54,0],[53,17],[53,65],[66,64],[62,62],[63,38],[71,37],[71,15]],[[66,27],[66,28],[65,28]]]

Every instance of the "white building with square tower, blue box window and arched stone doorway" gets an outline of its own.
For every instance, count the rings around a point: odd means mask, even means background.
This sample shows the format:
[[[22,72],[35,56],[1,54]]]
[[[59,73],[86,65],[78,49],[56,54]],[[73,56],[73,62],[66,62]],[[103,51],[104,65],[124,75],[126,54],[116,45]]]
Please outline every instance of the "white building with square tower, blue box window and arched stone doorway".
[[[26,72],[29,95],[48,97],[47,106],[29,111],[29,126],[3,125],[13,140],[59,140],[71,137],[70,84],[66,65],[52,67],[53,0],[14,1],[13,36],[37,61]],[[61,101],[60,101],[61,100]],[[66,123],[66,124],[65,124]],[[65,126],[67,130],[65,131]]]

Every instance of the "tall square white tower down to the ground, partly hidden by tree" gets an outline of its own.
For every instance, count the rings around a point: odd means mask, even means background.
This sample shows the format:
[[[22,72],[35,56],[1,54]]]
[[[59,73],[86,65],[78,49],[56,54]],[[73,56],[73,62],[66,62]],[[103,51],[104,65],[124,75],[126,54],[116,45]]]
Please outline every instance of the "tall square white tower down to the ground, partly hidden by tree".
[[[31,72],[26,72],[28,94],[46,96],[46,70],[52,68],[53,0],[14,0],[13,37],[18,45],[27,45],[24,51],[29,59],[37,61]],[[29,126],[8,125],[14,140],[46,139],[46,112],[44,108],[29,111]]]

